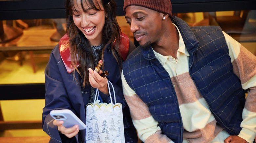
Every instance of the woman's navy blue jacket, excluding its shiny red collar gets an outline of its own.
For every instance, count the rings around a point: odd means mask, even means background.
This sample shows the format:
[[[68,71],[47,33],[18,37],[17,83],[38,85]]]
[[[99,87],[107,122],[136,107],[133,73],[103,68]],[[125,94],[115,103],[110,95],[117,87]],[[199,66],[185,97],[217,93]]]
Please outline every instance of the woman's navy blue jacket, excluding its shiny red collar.
[[[122,61],[120,61],[122,63]],[[108,80],[113,84],[116,93],[116,101],[123,106],[123,120],[125,142],[137,143],[138,137],[132,124],[129,107],[126,105],[122,92],[120,69],[116,59],[108,48],[104,51],[104,71],[108,71]],[[75,81],[77,79],[78,81]],[[43,108],[42,126],[43,130],[51,137],[50,142],[62,142],[57,126],[53,125],[53,118],[50,116],[51,110],[70,109],[78,118],[86,123],[86,104],[89,101],[91,86],[81,88],[81,77],[75,72],[68,73],[60,56],[59,45],[57,45],[49,59],[45,69],[45,107]],[[111,91],[113,92],[113,91]],[[104,102],[111,103],[110,97],[100,92]],[[112,95],[114,95],[112,93]],[[113,99],[114,101],[114,99]],[[64,136],[65,137],[65,136]],[[85,130],[80,130],[75,136],[76,142],[85,141]]]

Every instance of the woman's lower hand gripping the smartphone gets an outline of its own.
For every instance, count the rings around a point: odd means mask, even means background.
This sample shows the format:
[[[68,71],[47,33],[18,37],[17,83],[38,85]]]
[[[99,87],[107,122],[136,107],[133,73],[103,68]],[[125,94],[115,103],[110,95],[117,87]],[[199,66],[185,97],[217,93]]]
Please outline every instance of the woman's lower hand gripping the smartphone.
[[[62,124],[64,121],[62,120],[53,120],[53,125],[58,127],[58,131],[60,131],[62,134],[66,135],[68,138],[72,138],[79,132],[78,125],[75,125],[71,128],[65,128]]]

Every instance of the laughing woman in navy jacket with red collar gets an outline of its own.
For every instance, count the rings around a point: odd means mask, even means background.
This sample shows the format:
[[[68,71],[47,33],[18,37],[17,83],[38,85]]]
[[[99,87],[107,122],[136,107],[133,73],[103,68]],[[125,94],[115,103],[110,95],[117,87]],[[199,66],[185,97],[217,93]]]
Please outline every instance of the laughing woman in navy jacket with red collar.
[[[70,109],[85,123],[86,104],[93,102],[96,88],[103,102],[110,103],[109,80],[116,101],[123,106],[125,142],[137,143],[120,78],[122,61],[135,46],[120,32],[115,11],[114,0],[66,1],[67,34],[53,49],[45,69],[43,130],[51,136],[50,142],[85,142],[85,130],[79,131],[76,125],[65,128],[50,111]],[[109,72],[107,77],[93,70],[99,60],[103,61],[102,71]]]

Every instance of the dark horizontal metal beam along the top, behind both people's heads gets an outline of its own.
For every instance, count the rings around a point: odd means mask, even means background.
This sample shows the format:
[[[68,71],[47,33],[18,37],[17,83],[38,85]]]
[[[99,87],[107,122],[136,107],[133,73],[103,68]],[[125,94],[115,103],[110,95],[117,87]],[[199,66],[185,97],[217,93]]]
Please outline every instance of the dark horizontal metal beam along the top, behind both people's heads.
[[[256,0],[171,0],[173,13],[256,9]],[[124,15],[123,0],[116,0]],[[65,0],[0,0],[0,20],[65,18]]]

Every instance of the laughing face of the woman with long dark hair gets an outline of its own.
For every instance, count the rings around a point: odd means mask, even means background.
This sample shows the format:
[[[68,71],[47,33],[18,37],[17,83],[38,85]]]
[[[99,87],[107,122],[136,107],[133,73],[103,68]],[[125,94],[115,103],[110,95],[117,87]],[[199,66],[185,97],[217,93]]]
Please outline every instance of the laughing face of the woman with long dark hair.
[[[100,8],[103,9],[100,0]],[[74,0],[75,9],[73,9],[73,20],[79,30],[90,41],[93,46],[98,46],[102,42],[102,29],[105,24],[105,12],[103,10],[95,10],[83,3],[83,10],[80,0]]]

